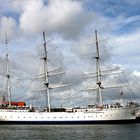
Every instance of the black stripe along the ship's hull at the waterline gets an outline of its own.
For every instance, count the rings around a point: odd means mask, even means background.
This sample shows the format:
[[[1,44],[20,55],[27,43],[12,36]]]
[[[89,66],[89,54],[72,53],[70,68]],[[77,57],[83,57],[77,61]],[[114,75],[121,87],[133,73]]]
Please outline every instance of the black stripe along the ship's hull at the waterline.
[[[59,124],[59,125],[76,125],[76,124],[129,124],[137,123],[140,120],[110,120],[110,121],[0,121],[0,124]]]

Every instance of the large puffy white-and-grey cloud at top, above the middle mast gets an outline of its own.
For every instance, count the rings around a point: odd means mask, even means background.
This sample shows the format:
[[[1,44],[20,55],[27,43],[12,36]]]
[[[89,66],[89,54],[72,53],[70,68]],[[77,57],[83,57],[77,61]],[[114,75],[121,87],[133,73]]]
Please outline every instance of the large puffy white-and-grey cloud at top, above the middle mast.
[[[46,30],[48,34],[64,38],[77,37],[94,17],[84,9],[82,2],[71,0],[50,0],[47,5],[42,0],[14,1],[13,8],[20,10],[19,28],[23,32]]]

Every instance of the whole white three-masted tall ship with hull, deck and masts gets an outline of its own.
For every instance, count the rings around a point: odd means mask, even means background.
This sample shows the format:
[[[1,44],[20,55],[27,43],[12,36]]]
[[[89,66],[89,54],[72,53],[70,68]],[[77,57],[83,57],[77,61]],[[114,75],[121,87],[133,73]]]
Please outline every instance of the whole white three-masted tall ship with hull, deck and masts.
[[[103,104],[102,90],[102,71],[100,67],[100,51],[98,45],[97,31],[95,31],[95,44],[96,44],[96,90],[99,101],[97,104],[88,105],[87,107],[51,107],[50,90],[52,85],[49,78],[52,75],[58,75],[63,72],[57,72],[57,68],[49,71],[48,69],[48,52],[47,42],[45,39],[45,32],[43,32],[43,72],[37,76],[36,79],[43,79],[42,89],[46,94],[46,108],[37,110],[34,106],[26,106],[25,102],[12,102],[11,101],[11,75],[9,73],[9,55],[6,53],[6,71],[5,77],[7,80],[7,93],[8,101],[3,97],[0,102],[0,123],[2,124],[99,124],[99,123],[131,123],[135,122],[137,106],[131,102],[127,105],[121,103]],[[7,45],[7,40],[6,40]],[[50,74],[51,72],[51,74]],[[106,74],[107,75],[107,74]],[[68,86],[61,85],[61,87]],[[58,86],[59,87],[59,86]],[[118,85],[119,87],[119,85]]]

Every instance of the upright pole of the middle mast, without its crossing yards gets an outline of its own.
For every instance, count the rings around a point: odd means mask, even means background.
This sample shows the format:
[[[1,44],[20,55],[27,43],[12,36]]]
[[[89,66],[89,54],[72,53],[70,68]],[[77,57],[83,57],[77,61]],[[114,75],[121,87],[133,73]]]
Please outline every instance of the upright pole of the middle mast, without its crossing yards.
[[[44,62],[44,85],[46,87],[46,96],[47,96],[47,101],[48,101],[48,109],[49,112],[51,112],[51,105],[50,105],[50,90],[49,90],[49,75],[48,75],[48,57],[47,57],[47,46],[46,46],[46,38],[45,38],[45,32],[43,32],[43,46],[44,46],[44,53],[45,55],[43,56],[43,62]]]

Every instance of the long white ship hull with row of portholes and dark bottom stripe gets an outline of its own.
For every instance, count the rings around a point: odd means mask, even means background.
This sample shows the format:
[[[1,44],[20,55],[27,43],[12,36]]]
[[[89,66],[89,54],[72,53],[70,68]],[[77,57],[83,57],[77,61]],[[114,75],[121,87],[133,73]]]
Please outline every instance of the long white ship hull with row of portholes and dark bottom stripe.
[[[79,109],[80,110],[80,109]],[[87,110],[77,112],[28,112],[24,110],[0,110],[0,123],[25,124],[86,124],[133,122],[130,108]]]

